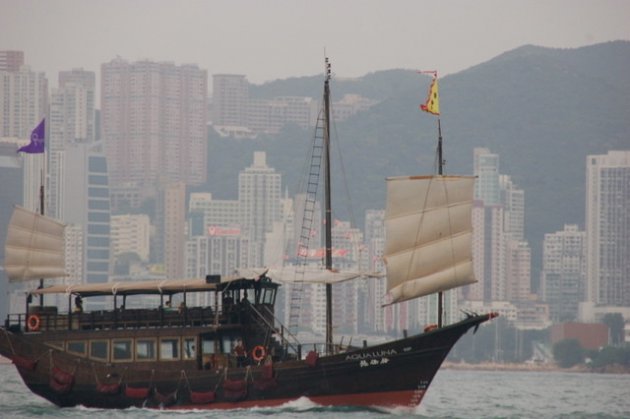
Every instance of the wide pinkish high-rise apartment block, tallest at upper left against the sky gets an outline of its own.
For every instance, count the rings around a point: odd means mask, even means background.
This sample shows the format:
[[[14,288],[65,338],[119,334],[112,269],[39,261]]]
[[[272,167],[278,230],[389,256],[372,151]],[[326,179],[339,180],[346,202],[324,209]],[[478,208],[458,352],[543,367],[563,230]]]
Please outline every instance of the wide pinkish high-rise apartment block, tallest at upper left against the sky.
[[[207,72],[196,65],[116,58],[102,65],[101,74],[101,130],[114,202],[131,196],[137,205],[163,185],[203,183]]]

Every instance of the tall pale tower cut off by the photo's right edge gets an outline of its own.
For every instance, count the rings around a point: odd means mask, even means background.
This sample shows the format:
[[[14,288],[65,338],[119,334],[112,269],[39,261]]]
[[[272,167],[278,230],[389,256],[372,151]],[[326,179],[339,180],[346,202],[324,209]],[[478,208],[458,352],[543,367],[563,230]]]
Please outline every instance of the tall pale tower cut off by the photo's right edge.
[[[586,300],[630,307],[630,150],[586,158]]]

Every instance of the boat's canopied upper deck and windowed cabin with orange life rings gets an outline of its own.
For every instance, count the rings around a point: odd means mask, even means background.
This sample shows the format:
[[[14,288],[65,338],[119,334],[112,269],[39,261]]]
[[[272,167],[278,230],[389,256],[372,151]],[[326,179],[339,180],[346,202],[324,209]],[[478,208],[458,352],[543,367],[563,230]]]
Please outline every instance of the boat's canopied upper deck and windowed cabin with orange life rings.
[[[205,280],[52,286],[31,291],[26,314],[10,314],[5,327],[39,334],[52,348],[103,363],[239,367],[292,358],[288,342],[273,338],[284,335],[284,330],[274,327],[278,288],[265,275],[224,281],[211,275]],[[198,293],[206,294],[203,299],[212,304],[190,304],[198,300],[192,298]],[[50,294],[67,294],[67,309],[33,303],[33,297]],[[157,296],[159,306],[126,308],[128,300],[146,295]],[[170,307],[176,295],[181,304]],[[84,299],[99,297],[109,297],[112,308],[83,310]]]

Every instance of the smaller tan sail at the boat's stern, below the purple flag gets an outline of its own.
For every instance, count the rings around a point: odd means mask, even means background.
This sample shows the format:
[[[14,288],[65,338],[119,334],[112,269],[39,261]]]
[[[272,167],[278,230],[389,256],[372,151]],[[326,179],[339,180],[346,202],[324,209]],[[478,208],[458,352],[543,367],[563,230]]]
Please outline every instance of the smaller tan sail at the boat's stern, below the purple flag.
[[[64,228],[52,218],[16,206],[4,247],[9,280],[65,276]]]

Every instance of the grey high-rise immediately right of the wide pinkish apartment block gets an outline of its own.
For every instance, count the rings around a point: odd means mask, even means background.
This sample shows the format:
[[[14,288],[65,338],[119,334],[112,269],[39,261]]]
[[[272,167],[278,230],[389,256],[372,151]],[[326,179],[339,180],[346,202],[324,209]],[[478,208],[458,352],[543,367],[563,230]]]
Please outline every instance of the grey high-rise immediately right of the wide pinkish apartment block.
[[[212,124],[246,127],[248,124],[249,82],[240,74],[212,76]]]

